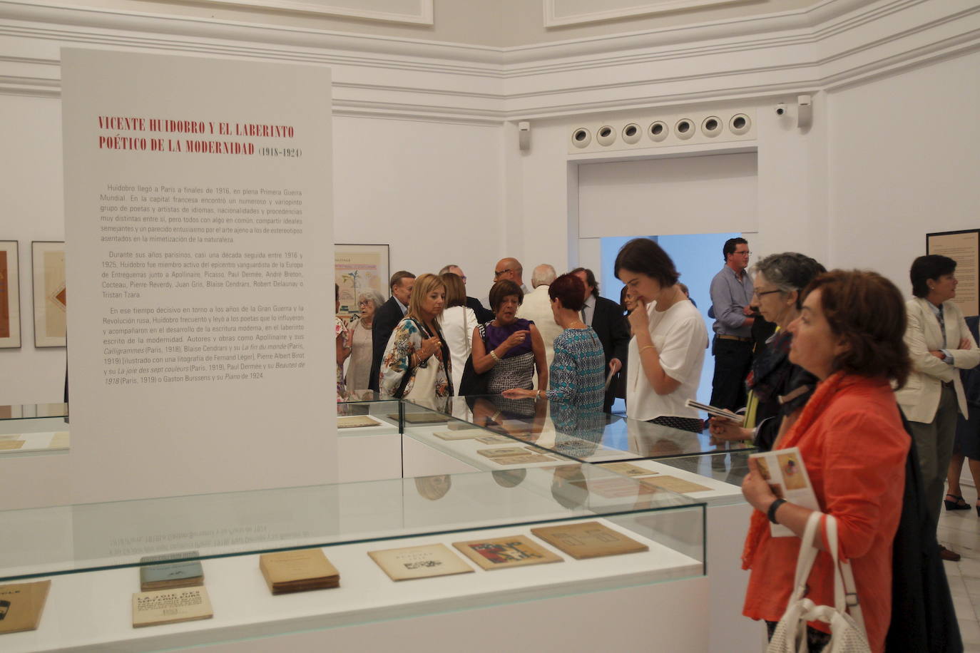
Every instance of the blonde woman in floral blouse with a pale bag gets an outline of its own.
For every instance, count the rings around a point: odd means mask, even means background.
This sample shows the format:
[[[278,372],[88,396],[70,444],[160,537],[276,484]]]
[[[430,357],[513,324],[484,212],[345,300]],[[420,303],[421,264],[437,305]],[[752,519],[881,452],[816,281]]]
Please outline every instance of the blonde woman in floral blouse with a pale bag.
[[[446,286],[434,274],[417,277],[409,311],[388,339],[381,358],[381,398],[451,396],[449,347],[436,318],[446,305]]]

